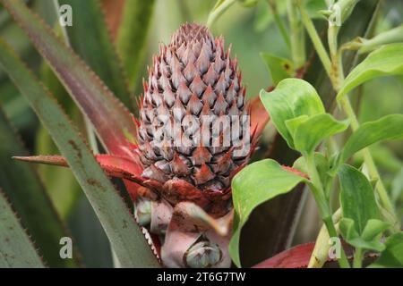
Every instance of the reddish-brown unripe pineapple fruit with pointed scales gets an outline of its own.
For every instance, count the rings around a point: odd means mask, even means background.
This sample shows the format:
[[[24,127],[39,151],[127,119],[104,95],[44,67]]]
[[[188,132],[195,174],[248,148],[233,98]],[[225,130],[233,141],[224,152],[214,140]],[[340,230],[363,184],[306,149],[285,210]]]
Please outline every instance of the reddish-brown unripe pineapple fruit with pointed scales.
[[[212,214],[223,213],[231,178],[254,141],[229,53],[206,27],[182,25],[154,57],[141,99],[142,176],[158,182],[170,203],[191,200]]]

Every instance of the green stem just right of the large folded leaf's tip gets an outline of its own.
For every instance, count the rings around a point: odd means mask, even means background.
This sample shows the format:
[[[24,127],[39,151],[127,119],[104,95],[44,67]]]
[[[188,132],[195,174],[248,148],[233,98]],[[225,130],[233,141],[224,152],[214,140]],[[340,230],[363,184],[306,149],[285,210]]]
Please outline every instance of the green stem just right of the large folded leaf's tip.
[[[316,165],[314,162],[314,154],[304,154],[304,158],[306,161],[306,167],[308,169],[308,175],[311,178],[312,184],[310,184],[311,190],[313,192],[313,198],[316,201],[316,204],[319,208],[319,213],[321,214],[322,221],[326,225],[326,228],[329,232],[330,238],[339,237],[338,232],[333,223],[331,210],[330,210],[330,202],[326,199],[321,177],[319,176],[318,170],[316,169]],[[344,252],[344,248],[340,249],[340,259],[339,265],[341,268],[349,268],[346,253]]]

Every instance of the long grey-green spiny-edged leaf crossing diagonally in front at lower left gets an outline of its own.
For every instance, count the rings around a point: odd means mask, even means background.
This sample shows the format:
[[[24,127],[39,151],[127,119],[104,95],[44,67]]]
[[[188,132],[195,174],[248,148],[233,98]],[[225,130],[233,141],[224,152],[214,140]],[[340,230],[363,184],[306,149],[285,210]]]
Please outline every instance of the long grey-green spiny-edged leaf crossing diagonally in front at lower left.
[[[121,265],[158,266],[139,226],[122,198],[107,179],[89,147],[56,104],[50,92],[21,63],[13,51],[1,42],[0,66],[7,71],[21,94],[30,102],[47,128],[56,146],[67,159],[74,176],[99,217]]]

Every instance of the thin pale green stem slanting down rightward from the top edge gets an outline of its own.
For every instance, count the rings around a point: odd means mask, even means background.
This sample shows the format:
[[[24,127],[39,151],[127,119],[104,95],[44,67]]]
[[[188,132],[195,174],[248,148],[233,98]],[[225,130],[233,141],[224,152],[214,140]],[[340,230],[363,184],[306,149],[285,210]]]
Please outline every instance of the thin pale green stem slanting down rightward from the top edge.
[[[324,46],[322,44],[322,40],[321,40],[321,38],[319,38],[319,35],[316,32],[315,26],[313,25],[313,21],[311,20],[311,18],[309,18],[309,15],[305,10],[304,5],[301,4],[301,2],[299,0],[297,2],[297,5],[299,8],[299,12],[301,13],[301,20],[304,23],[304,27],[313,42],[313,46],[314,46],[316,52],[318,53],[319,58],[322,61],[323,68],[325,69],[325,71],[328,73],[328,75],[330,77],[331,62],[330,62],[328,52],[324,48]]]

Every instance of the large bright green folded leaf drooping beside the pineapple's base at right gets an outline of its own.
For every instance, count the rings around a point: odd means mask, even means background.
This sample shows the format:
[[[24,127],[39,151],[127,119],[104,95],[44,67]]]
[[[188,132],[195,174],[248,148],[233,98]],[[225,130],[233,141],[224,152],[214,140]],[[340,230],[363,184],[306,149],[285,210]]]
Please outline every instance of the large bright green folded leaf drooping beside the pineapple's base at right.
[[[271,198],[287,193],[303,181],[305,181],[303,177],[286,171],[271,159],[250,164],[236,174],[232,181],[235,218],[229,253],[237,266],[241,265],[239,257],[241,229],[253,209]]]

